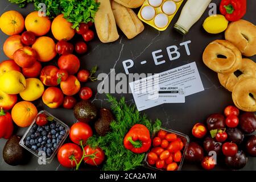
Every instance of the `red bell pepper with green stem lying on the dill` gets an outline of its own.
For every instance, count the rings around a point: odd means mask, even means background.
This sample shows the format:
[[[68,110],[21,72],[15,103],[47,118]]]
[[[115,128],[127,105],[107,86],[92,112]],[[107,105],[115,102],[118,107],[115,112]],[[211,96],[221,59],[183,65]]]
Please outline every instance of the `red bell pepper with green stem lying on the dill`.
[[[151,138],[147,127],[141,124],[131,127],[123,140],[123,145],[137,154],[148,151],[151,146]]]

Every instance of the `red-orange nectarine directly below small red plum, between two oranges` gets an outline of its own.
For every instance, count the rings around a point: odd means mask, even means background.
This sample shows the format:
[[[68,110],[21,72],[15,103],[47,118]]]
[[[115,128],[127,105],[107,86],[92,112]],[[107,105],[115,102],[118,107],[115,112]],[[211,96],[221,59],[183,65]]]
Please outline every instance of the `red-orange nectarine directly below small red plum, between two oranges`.
[[[16,64],[22,68],[30,68],[36,62],[37,53],[31,47],[23,47],[18,49],[13,54],[13,59]]]

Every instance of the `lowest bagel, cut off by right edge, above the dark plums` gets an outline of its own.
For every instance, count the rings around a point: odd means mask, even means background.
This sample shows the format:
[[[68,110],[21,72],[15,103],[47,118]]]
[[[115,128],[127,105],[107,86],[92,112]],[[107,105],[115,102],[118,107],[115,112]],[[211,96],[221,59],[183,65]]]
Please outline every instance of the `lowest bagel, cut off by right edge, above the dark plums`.
[[[241,79],[232,92],[234,104],[243,111],[256,111],[256,78],[245,77]]]

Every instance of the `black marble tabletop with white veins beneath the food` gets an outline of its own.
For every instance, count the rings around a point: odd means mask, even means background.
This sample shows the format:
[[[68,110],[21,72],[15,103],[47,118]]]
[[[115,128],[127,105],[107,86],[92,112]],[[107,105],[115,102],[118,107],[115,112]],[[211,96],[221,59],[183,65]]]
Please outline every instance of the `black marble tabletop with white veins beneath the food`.
[[[220,3],[220,0],[213,0],[212,2]],[[256,24],[255,10],[256,1],[249,0],[247,6],[247,13],[244,19]],[[184,5],[184,4],[183,4]],[[181,6],[182,8],[182,6]],[[180,8],[180,10],[181,10]],[[33,6],[30,5],[26,9],[19,9],[16,5],[11,5],[7,0],[0,1],[0,14],[8,10],[18,10],[24,16],[33,10]],[[189,30],[186,36],[179,35],[174,31],[174,23],[179,17],[179,12],[172,20],[170,27],[166,31],[159,32],[154,28],[147,26],[145,24],[145,30],[142,34],[138,35],[132,40],[128,40],[121,31],[119,31],[120,38],[109,44],[101,43],[97,38],[89,43],[89,52],[80,56],[81,68],[90,69],[93,65],[97,64],[99,66],[99,73],[110,74],[110,69],[115,69],[116,73],[124,73],[122,66],[122,61],[127,59],[132,59],[134,61],[134,67],[129,69],[130,73],[159,73],[167,71],[168,69],[179,67],[180,65],[191,63],[196,61],[199,73],[204,85],[204,92],[193,94],[185,98],[185,104],[163,104],[150,109],[142,111],[148,115],[152,121],[159,118],[163,122],[163,126],[172,130],[180,131],[181,133],[188,134],[193,140],[191,135],[192,126],[196,122],[204,122],[207,116],[211,113],[221,113],[226,105],[233,104],[231,94],[225,90],[219,83],[217,74],[210,71],[207,68],[202,59],[202,53],[209,42],[215,39],[224,39],[224,34],[210,35],[203,30],[201,26],[204,19],[208,16],[208,10],[205,11],[203,17]],[[7,57],[2,51],[2,45],[5,42],[7,35],[0,32],[0,60],[6,60]],[[77,37],[76,39],[81,39]],[[181,42],[191,40],[189,44],[189,49],[191,55],[187,55],[184,47],[180,47]],[[166,47],[176,45],[179,47],[181,56],[179,59],[170,61],[168,60]],[[163,50],[163,59],[166,63],[155,65],[152,59],[151,52],[158,49]],[[256,56],[251,57],[251,59],[256,60]],[[141,61],[147,60],[147,63],[141,65]],[[55,64],[55,61],[51,61],[51,64]],[[86,83],[93,89],[93,92],[97,92],[98,82]],[[106,102],[105,94],[94,94],[92,99],[93,103],[97,107],[109,107]],[[132,94],[114,94],[117,98],[124,96],[129,104],[133,104]],[[40,101],[39,101],[40,105]],[[65,109],[49,109],[47,106],[43,106],[44,109],[48,110],[51,114],[55,115],[61,121],[67,123],[69,126],[74,123],[75,117],[73,116],[72,110]],[[22,136],[26,129],[15,130],[17,135]],[[28,159],[28,163],[23,166],[9,166],[2,159],[2,150],[5,145],[6,140],[0,139],[0,170],[67,170],[67,168],[61,167],[57,162],[57,158],[49,165],[39,165],[37,158],[31,155]],[[81,169],[96,169],[88,166],[83,166]],[[195,164],[183,164],[183,170],[199,170],[200,165]],[[226,170],[222,160],[218,161],[216,170]],[[246,167],[243,170],[255,170],[256,169],[256,159],[249,158]]]

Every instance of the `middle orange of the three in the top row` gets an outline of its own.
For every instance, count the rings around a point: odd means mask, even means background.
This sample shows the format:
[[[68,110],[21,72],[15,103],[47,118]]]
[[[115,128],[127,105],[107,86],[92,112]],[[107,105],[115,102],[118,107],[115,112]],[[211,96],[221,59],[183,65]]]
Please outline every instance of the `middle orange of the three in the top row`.
[[[34,32],[36,36],[46,35],[51,29],[51,20],[48,16],[39,16],[38,11],[34,11],[27,15],[25,27],[27,31]]]

